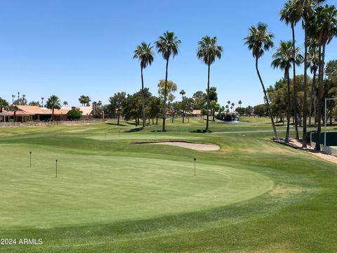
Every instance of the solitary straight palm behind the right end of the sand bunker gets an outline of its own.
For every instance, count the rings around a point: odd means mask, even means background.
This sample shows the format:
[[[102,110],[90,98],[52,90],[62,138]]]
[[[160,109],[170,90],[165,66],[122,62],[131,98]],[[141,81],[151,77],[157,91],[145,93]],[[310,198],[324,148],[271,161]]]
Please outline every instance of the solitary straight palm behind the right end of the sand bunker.
[[[211,71],[211,65],[216,61],[216,58],[220,60],[223,48],[217,44],[216,37],[205,36],[198,42],[197,58],[202,60],[208,67],[207,74],[207,116],[206,116],[206,130],[209,130],[209,74]]]

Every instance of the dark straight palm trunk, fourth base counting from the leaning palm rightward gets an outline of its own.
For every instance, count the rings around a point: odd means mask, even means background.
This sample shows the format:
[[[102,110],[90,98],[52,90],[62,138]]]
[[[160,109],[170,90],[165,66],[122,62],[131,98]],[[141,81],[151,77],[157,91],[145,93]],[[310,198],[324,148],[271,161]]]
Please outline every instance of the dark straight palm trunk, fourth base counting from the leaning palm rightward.
[[[295,47],[295,45],[293,45]],[[295,69],[295,57],[293,61],[293,67]],[[307,113],[308,113],[308,101],[307,101],[307,89],[308,89],[308,23],[305,22],[305,39],[304,39],[304,84],[303,84],[303,137],[302,148],[307,148]],[[311,117],[311,116],[310,116]]]

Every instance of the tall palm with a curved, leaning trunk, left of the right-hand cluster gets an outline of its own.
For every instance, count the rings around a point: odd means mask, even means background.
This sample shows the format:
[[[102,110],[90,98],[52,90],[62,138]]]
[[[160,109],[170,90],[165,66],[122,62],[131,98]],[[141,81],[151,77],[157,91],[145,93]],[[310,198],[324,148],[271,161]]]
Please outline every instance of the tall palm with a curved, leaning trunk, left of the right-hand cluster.
[[[272,110],[270,108],[269,99],[267,96],[267,91],[265,90],[265,85],[263,84],[262,77],[260,75],[260,71],[258,70],[258,59],[263,56],[265,51],[269,50],[274,46],[272,39],[274,35],[267,30],[268,26],[264,23],[258,23],[258,26],[252,26],[249,28],[249,35],[244,38],[249,50],[253,53],[253,58],[255,58],[255,67],[256,72],[258,74],[258,79],[260,79],[260,83],[263,89],[263,93],[265,95],[265,103],[267,104],[267,110],[270,115],[270,119],[272,121],[272,129],[274,131],[275,138],[279,139],[277,136],[277,130],[274,122],[274,118],[272,117]]]

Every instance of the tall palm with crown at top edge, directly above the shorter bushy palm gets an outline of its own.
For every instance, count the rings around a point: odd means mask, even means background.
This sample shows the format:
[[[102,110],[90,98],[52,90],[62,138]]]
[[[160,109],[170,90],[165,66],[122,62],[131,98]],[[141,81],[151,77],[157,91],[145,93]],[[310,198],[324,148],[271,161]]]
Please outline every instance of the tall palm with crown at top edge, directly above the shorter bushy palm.
[[[295,53],[295,43],[296,43],[295,42],[295,26],[300,21],[300,15],[301,15],[300,2],[298,0],[288,0],[286,4],[284,4],[284,8],[279,12],[279,15],[280,15],[280,20],[284,21],[286,25],[289,25],[289,24],[291,25],[291,34],[293,37],[293,53]],[[295,56],[293,56],[293,60],[295,60]],[[303,108],[304,107],[305,106],[303,106]],[[297,107],[296,64],[293,63],[293,114],[295,117],[295,135],[296,135],[296,139],[299,139],[297,109],[298,107]]]

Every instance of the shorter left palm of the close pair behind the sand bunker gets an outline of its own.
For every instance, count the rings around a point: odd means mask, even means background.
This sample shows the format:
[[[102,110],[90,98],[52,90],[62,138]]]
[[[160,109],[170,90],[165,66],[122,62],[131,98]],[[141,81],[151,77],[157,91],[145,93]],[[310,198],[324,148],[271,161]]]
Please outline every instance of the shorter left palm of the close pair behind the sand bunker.
[[[133,59],[138,58],[140,60],[140,75],[142,79],[142,116],[143,116],[143,126],[145,126],[145,93],[144,93],[144,79],[143,79],[143,70],[147,65],[151,65],[153,62],[153,46],[150,46],[150,43],[142,42],[136,47],[134,51]]]

